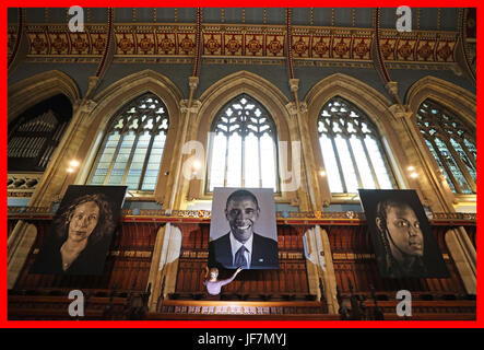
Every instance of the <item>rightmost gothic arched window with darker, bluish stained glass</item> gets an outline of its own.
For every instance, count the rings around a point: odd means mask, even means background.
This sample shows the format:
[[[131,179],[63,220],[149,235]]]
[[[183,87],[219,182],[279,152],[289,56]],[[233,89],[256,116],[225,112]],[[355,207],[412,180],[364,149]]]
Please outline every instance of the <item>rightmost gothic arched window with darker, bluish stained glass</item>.
[[[475,135],[452,113],[426,100],[416,113],[418,128],[450,188],[456,194],[476,191]]]

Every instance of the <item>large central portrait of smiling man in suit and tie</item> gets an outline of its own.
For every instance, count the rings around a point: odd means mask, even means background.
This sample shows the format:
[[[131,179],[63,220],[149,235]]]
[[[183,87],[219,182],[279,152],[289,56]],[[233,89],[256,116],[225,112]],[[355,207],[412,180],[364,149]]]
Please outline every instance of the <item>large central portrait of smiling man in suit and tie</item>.
[[[213,189],[209,266],[279,268],[272,188]]]

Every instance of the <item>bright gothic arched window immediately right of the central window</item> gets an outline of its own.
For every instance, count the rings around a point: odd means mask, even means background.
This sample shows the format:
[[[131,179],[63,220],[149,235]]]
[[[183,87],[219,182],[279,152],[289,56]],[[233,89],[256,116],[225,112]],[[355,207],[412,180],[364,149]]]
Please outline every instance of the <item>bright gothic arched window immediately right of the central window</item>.
[[[331,192],[397,187],[376,126],[352,103],[331,98],[319,115],[318,135]]]

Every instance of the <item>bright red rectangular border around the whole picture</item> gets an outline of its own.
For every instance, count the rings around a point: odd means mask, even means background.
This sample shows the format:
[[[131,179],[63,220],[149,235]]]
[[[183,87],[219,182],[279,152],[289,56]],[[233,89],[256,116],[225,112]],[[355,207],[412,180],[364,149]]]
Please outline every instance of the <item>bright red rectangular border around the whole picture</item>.
[[[143,0],[143,7],[226,7],[226,2],[222,0],[202,0],[202,1],[187,1],[187,0],[178,0],[178,1],[153,1],[153,0]],[[327,1],[314,1],[314,0],[304,0],[304,3],[300,1],[288,1],[288,0],[265,0],[263,2],[264,7],[331,7],[332,3]],[[477,18],[484,19],[484,4],[481,4],[479,1],[448,1],[448,0],[426,0],[422,3],[420,1],[355,1],[350,0],[345,2],[346,7],[399,7],[399,5],[409,5],[409,7],[458,7],[458,8],[477,8]],[[108,1],[62,1],[62,0],[23,0],[23,1],[14,1],[14,0],[4,0],[1,1],[0,4],[0,65],[3,67],[1,69],[1,115],[7,116],[7,96],[8,96],[8,72],[7,72],[7,9],[8,8],[35,8],[35,7],[46,7],[49,5],[51,8],[56,7],[71,7],[71,5],[82,5],[82,7],[111,7],[113,2]],[[132,1],[122,0],[116,1],[116,7],[131,7]],[[245,1],[232,1],[232,7],[261,7],[260,1],[253,0],[245,0]],[[477,26],[477,36],[481,37],[484,32],[484,25],[480,24]],[[477,57],[483,56],[483,45],[477,45]],[[484,78],[482,72],[483,70],[477,69],[477,81],[481,82]],[[477,90],[482,86],[477,84]],[[477,110],[481,110],[482,98],[479,98],[477,95]],[[4,149],[7,150],[7,118],[3,124],[4,129],[1,132],[1,142],[4,144]],[[477,149],[480,149],[480,144],[482,143],[482,121],[477,120]],[[2,152],[0,158],[0,167],[3,170],[1,172],[0,183],[7,184],[7,152]],[[477,172],[481,173],[482,162],[477,160]],[[481,178],[481,177],[480,177]],[[480,178],[477,179],[477,187],[481,184]],[[477,198],[479,198],[477,192]],[[483,209],[483,205],[480,200],[477,200],[477,222],[481,217],[481,212]],[[0,212],[3,212],[7,217],[7,189],[1,191],[1,201],[0,201]],[[342,320],[121,320],[121,322],[113,322],[113,320],[86,320],[86,322],[69,322],[69,320],[59,320],[59,322],[12,322],[7,319],[7,220],[2,220],[0,223],[1,232],[3,235],[3,243],[0,244],[0,264],[3,268],[0,270],[0,327],[4,328],[481,328],[483,327],[483,308],[484,303],[481,298],[477,298],[477,314],[476,320],[459,320],[459,322],[442,322],[442,320],[432,320],[432,322],[423,322],[423,320],[383,320],[383,322],[342,322]],[[483,230],[477,226],[477,245],[482,247],[481,237]],[[483,259],[477,257],[477,270],[482,270]],[[477,295],[482,294],[482,283],[477,283]]]

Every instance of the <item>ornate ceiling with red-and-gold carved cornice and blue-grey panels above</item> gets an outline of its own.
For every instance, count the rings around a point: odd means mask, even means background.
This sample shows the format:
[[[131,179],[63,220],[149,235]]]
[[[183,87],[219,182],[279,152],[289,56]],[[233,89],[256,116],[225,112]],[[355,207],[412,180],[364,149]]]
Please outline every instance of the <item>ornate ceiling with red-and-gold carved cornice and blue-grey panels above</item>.
[[[84,9],[85,31],[71,33],[67,8],[9,9],[9,56],[15,49],[19,22],[28,38],[26,60],[99,62],[111,28],[115,62],[193,61],[200,33],[204,63],[284,65],[287,30],[296,66],[338,61],[368,66],[375,39],[370,8],[194,8]],[[451,8],[412,9],[410,33],[396,30],[396,9],[380,9],[379,48],[394,67],[441,69],[456,65],[459,39],[475,63],[475,12]],[[198,23],[200,26],[198,26]],[[200,30],[200,32],[198,32]],[[440,67],[440,68],[439,68]]]

